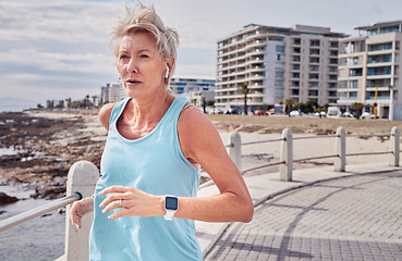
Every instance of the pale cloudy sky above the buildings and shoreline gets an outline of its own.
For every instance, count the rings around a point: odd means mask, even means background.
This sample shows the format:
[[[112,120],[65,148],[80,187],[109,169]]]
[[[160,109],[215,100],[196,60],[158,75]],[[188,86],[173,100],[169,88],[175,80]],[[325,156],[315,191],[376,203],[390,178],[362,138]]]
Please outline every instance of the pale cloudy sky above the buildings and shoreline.
[[[98,95],[118,74],[106,34],[121,0],[0,0],[0,103]],[[127,3],[131,0],[125,1]],[[402,20],[400,0],[143,0],[178,29],[176,76],[214,77],[217,40],[255,23],[330,27]],[[19,100],[15,102],[24,102]],[[1,104],[0,104],[1,105]]]

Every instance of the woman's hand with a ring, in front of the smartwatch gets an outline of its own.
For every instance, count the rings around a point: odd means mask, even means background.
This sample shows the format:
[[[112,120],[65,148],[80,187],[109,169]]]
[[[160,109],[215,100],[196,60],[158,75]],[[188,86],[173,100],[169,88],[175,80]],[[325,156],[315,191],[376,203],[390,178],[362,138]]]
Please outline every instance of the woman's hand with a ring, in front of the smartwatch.
[[[113,214],[109,215],[109,219],[119,219],[122,216],[156,216],[163,215],[163,197],[147,194],[143,190],[125,187],[125,186],[111,186],[105,188],[99,195],[109,196],[99,204],[102,213],[108,213],[113,209],[121,209]]]

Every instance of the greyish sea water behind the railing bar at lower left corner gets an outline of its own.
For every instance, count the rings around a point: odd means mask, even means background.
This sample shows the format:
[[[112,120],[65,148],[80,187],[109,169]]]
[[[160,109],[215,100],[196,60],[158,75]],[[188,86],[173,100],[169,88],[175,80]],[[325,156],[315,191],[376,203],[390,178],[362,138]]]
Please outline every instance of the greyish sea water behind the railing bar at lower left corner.
[[[33,199],[34,190],[21,186],[0,186],[0,191],[14,196],[20,201],[0,206],[0,221],[48,203],[45,199]],[[65,214],[52,211],[20,226],[0,233],[0,260],[54,260],[64,253]]]

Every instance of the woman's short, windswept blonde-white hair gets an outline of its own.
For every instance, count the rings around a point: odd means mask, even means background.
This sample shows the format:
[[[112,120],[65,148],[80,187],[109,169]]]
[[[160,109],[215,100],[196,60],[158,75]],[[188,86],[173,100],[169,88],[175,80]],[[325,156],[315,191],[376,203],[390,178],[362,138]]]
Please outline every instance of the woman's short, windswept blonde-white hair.
[[[109,27],[111,35],[110,44],[115,57],[119,53],[119,44],[123,36],[132,33],[146,32],[156,39],[156,46],[159,55],[167,60],[169,58],[176,59],[179,46],[179,34],[174,28],[165,26],[162,20],[156,13],[154,5],[145,7],[139,1],[132,7],[123,3],[123,12],[117,17]],[[169,79],[173,75],[175,63],[170,69]]]

